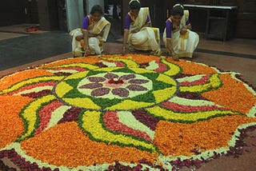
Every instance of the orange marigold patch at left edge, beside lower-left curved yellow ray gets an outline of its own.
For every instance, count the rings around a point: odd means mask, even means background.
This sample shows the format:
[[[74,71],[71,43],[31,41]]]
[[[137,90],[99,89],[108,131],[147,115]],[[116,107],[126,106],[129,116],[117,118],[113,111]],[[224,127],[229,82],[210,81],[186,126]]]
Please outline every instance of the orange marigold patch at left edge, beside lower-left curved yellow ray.
[[[24,130],[22,118],[18,116],[24,105],[33,98],[0,96],[0,149],[15,141]]]

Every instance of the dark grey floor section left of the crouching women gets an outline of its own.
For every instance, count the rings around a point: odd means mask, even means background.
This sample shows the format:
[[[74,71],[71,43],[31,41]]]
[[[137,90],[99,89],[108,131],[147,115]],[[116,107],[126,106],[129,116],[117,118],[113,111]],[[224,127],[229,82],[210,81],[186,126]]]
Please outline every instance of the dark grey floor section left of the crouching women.
[[[1,34],[0,34],[1,35]],[[29,34],[0,41],[0,70],[71,51],[71,37],[62,31]]]

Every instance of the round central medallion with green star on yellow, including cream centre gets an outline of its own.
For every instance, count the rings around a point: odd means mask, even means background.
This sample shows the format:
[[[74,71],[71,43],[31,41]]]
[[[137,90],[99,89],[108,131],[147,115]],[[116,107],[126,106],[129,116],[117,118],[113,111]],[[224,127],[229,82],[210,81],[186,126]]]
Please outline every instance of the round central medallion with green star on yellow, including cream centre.
[[[158,93],[163,91],[164,96]],[[177,82],[164,74],[119,67],[72,74],[55,88],[63,103],[94,110],[141,109],[166,101],[176,91]]]

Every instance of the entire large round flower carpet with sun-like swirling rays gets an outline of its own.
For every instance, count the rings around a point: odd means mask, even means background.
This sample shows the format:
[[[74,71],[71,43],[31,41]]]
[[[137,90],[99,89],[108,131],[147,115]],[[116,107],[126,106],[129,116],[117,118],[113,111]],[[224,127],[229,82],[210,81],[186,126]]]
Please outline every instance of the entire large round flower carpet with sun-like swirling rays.
[[[199,167],[256,125],[256,93],[240,74],[142,54],[10,74],[0,104],[0,167],[23,170]]]

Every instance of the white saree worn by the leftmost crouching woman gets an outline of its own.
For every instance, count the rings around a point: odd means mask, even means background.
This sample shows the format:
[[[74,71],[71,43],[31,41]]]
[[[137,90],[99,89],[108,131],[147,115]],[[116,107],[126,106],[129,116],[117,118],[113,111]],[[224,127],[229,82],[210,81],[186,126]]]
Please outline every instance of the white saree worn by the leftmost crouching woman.
[[[88,38],[89,48],[94,54],[102,54],[103,42],[110,33],[110,22],[106,18],[102,17],[98,22],[91,23],[88,27],[90,34],[98,34],[97,37]],[[76,40],[77,36],[83,35],[82,29],[78,28],[70,31],[70,35],[73,36],[72,40],[72,51],[75,57],[82,56],[85,53],[83,50],[84,41],[83,39],[79,42]]]

